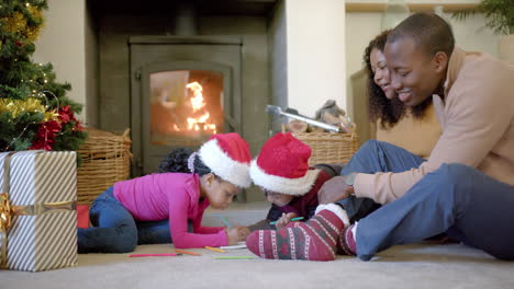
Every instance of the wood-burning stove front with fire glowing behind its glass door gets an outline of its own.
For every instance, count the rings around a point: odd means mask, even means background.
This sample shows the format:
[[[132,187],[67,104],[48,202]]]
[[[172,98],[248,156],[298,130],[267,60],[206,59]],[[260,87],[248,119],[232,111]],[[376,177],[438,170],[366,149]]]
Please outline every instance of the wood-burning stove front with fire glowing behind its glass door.
[[[198,149],[216,132],[241,132],[241,39],[130,38],[132,128],[141,173],[174,148]]]

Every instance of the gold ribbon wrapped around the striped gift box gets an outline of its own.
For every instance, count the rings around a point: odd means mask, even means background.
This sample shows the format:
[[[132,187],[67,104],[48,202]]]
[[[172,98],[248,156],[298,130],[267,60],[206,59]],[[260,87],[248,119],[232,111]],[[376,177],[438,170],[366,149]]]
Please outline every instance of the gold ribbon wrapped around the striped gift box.
[[[7,242],[8,242],[8,230],[11,227],[11,220],[13,216],[36,216],[46,212],[56,212],[62,210],[76,210],[77,204],[75,200],[69,201],[54,201],[43,203],[26,206],[11,206],[9,203],[9,190],[11,183],[11,157],[15,152],[10,152],[3,160],[3,184],[2,192],[0,194],[0,236],[2,245],[0,248],[0,268],[7,267]]]

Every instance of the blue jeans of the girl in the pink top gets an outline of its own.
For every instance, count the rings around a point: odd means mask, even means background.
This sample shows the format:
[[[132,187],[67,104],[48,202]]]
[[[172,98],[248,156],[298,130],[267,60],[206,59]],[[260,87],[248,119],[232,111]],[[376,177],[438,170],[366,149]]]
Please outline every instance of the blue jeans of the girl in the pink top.
[[[171,243],[169,220],[134,220],[114,198],[113,187],[94,199],[89,218],[93,228],[77,229],[79,253],[126,253],[137,244]]]

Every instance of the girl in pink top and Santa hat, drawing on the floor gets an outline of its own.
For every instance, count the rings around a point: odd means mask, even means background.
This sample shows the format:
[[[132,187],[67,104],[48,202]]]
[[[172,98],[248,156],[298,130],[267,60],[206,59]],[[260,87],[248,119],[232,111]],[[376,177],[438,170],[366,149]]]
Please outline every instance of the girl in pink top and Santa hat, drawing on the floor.
[[[209,228],[201,222],[208,206],[225,209],[250,185],[250,161],[248,143],[235,132],[212,136],[190,155],[175,150],[160,165],[161,171],[175,172],[118,182],[93,201],[94,228],[78,229],[79,253],[125,253],[147,243],[172,242],[183,248],[244,241],[246,228]],[[163,228],[168,219],[169,230]]]

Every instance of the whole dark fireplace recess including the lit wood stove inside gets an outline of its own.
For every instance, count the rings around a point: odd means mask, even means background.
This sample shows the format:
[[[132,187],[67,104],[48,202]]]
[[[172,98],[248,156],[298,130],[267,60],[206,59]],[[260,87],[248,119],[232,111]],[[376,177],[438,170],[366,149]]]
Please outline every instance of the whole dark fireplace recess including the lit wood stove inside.
[[[132,176],[156,172],[174,148],[198,148],[210,125],[241,134],[257,154],[270,136],[266,105],[287,100],[287,81],[271,73],[286,67],[270,61],[284,59],[284,25],[269,25],[275,0],[87,2],[99,60],[98,116],[88,119],[108,131],[131,128]],[[191,112],[194,82],[205,107]],[[190,128],[188,118],[205,112]]]

